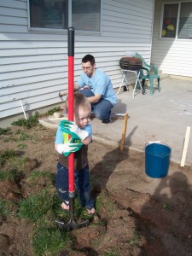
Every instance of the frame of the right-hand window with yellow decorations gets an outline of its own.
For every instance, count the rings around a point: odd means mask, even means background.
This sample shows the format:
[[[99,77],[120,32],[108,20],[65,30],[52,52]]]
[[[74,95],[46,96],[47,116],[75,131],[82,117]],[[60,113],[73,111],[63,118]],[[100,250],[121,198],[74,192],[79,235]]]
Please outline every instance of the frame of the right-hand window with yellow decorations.
[[[161,15],[160,15],[160,39],[162,40],[191,40],[191,38],[178,38],[178,26],[180,20],[180,12],[181,12],[181,4],[182,3],[191,3],[191,1],[177,1],[177,2],[164,2],[161,6]],[[162,37],[162,29],[163,29],[163,16],[164,16],[164,6],[166,4],[178,4],[178,11],[177,11],[177,29],[176,29],[176,36],[175,38],[163,38]]]

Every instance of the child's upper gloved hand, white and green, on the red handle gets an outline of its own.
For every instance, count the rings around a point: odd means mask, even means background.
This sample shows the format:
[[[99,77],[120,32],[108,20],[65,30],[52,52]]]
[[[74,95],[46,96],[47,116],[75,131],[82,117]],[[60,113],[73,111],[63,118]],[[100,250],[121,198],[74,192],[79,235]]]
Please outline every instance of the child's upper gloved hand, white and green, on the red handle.
[[[69,133],[75,139],[84,141],[84,139],[89,136],[88,131],[81,130],[74,122],[62,120],[60,126],[61,131]]]

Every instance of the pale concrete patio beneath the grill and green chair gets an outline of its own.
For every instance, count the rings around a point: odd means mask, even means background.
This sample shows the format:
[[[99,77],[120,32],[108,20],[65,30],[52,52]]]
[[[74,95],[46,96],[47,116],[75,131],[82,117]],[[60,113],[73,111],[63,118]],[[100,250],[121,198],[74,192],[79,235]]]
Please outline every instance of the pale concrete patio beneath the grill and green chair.
[[[151,96],[138,91],[135,98],[132,90],[120,92],[113,113],[129,114],[125,147],[144,150],[146,143],[161,141],[172,148],[172,160],[180,163],[187,126],[192,127],[192,82],[180,79],[165,79],[160,82],[161,91],[154,89]],[[123,119],[112,119],[102,125],[98,119],[91,121],[93,134],[111,143],[120,143]],[[192,164],[192,131],[185,165]]]

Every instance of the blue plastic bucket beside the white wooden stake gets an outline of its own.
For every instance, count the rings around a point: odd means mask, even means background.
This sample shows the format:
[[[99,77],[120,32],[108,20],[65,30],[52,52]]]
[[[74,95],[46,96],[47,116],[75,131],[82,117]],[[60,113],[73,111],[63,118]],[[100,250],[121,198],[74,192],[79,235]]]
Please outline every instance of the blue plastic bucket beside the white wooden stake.
[[[166,177],[172,149],[164,143],[148,143],[145,147],[145,172],[149,177]]]

